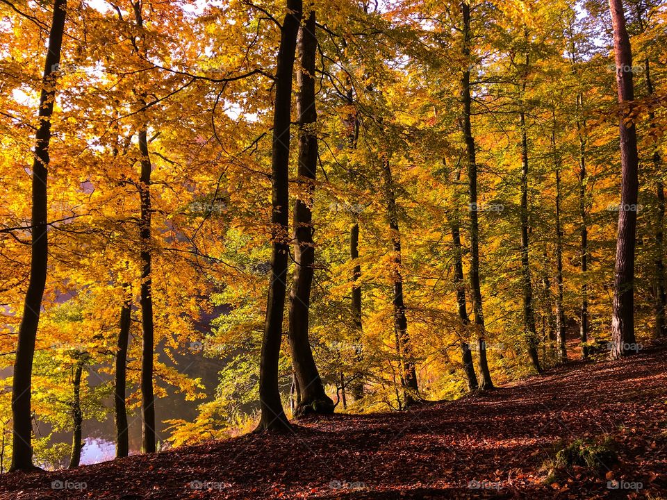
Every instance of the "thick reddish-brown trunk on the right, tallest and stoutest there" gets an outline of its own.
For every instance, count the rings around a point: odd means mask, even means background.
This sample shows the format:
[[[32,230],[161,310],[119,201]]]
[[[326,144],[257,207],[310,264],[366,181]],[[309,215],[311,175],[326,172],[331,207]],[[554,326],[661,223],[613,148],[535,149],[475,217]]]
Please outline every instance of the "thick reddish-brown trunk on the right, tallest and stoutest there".
[[[614,26],[614,55],[616,57],[616,84],[621,106],[634,100],[632,86],[632,51],[625,30],[623,0],[609,0],[611,23]],[[637,135],[634,123],[625,124],[625,110],[621,110],[620,135],[620,206],[618,210],[618,240],[616,241],[616,269],[614,276],[614,307],[611,319],[611,358],[616,359],[635,352],[634,349],[634,247],[637,224],[637,196],[639,190]]]

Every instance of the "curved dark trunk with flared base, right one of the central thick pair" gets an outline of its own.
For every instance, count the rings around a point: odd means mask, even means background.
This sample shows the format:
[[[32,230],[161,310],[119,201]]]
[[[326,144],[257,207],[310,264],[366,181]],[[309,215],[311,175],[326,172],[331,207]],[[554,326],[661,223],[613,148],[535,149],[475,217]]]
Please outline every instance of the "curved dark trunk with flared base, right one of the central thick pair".
[[[295,417],[308,413],[333,413],[334,401],[324,392],[324,385],[315,365],[313,351],[308,340],[308,311],[311,305],[315,246],[313,243],[313,193],[318,169],[317,108],[315,108],[315,52],[318,40],[315,35],[315,10],[311,10],[299,29],[299,56],[301,65],[297,73],[299,94],[299,165],[297,177],[304,185],[304,199],[297,199],[294,208],[294,256],[295,271],[290,293],[289,339],[295,374],[302,387],[301,401]]]

